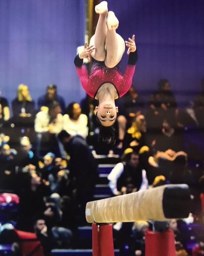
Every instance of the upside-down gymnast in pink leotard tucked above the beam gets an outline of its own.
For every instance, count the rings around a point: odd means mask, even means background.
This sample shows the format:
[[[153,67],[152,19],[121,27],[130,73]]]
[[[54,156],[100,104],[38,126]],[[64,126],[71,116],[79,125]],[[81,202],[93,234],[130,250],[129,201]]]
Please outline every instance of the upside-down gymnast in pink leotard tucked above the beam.
[[[83,51],[75,57],[74,64],[84,90],[92,98],[99,100],[99,106],[96,107],[97,121],[102,125],[99,140],[114,144],[112,125],[118,113],[115,99],[122,97],[131,87],[138,58],[137,48],[135,35],[124,42],[123,38],[116,33],[119,21],[112,11],[108,12],[106,1],[96,5],[95,11],[100,15],[95,35],[90,39],[90,46],[85,43]],[[125,51],[125,44],[128,47],[129,60],[122,75],[120,61]],[[90,62],[90,55],[93,62],[88,76],[83,59],[87,58]]]

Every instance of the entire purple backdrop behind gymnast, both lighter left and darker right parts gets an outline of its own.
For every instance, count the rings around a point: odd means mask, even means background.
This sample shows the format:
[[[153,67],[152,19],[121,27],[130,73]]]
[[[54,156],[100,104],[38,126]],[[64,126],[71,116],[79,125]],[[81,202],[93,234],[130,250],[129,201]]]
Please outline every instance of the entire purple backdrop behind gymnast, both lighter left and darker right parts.
[[[66,103],[83,98],[73,59],[84,42],[85,0],[0,0],[0,87],[10,101],[20,83],[37,100],[56,83]],[[124,39],[136,35],[133,84],[149,95],[168,78],[178,102],[191,100],[204,77],[203,0],[109,0]],[[127,63],[126,54],[122,68]]]

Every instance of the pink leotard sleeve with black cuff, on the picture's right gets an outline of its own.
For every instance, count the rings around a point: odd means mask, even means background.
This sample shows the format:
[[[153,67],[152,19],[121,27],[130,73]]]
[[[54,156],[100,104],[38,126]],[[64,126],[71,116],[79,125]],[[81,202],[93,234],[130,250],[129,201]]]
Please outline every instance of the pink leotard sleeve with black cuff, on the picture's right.
[[[125,88],[123,89],[122,94],[120,94],[120,97],[126,94],[132,85],[132,79],[135,73],[135,65],[137,63],[137,60],[138,60],[138,50],[136,49],[135,52],[131,52],[129,54],[128,64],[126,66],[125,73],[123,75]]]

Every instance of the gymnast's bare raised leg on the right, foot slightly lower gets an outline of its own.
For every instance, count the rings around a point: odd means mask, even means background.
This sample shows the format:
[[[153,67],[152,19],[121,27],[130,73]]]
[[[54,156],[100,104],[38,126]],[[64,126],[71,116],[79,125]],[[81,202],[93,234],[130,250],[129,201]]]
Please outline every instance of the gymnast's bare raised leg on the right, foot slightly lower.
[[[120,62],[125,51],[125,42],[115,31],[118,28],[119,21],[113,12],[108,12],[106,23],[107,34],[105,40],[105,65],[111,68]]]

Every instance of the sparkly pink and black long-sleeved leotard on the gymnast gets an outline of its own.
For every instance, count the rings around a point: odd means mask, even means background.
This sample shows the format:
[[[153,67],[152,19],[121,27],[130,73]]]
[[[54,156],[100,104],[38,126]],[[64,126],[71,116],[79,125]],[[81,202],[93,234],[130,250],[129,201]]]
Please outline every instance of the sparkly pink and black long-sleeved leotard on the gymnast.
[[[132,85],[137,58],[137,50],[130,53],[124,75],[121,74],[120,63],[109,68],[105,65],[104,61],[93,59],[90,75],[88,75],[87,69],[83,65],[83,59],[80,59],[78,55],[74,59],[74,64],[82,87],[92,98],[96,97],[99,88],[104,83],[113,84],[119,98],[126,94]]]

